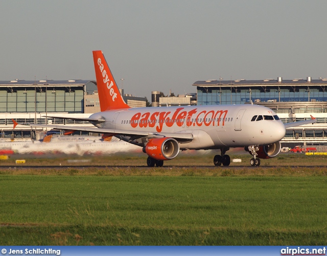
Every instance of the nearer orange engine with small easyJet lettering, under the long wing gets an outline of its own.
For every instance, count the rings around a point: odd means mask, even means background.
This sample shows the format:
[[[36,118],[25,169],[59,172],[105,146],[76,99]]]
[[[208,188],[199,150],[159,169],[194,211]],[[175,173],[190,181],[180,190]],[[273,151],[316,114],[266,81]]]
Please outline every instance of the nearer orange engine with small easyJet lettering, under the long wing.
[[[179,145],[173,138],[151,139],[143,151],[156,160],[171,160],[178,155]]]

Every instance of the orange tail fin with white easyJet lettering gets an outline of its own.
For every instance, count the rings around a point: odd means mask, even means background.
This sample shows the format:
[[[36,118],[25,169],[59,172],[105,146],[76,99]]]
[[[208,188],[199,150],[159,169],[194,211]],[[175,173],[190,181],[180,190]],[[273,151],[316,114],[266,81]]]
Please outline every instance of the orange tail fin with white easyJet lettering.
[[[128,109],[102,51],[93,51],[101,111]]]

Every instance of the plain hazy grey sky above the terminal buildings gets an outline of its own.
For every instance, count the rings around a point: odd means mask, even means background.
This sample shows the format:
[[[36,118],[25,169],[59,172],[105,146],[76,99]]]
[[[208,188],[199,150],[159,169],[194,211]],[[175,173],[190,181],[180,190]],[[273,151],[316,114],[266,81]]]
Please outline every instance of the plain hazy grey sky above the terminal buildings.
[[[94,50],[119,88],[149,101],[195,93],[198,80],[327,77],[325,0],[4,0],[0,10],[4,81],[93,80]]]

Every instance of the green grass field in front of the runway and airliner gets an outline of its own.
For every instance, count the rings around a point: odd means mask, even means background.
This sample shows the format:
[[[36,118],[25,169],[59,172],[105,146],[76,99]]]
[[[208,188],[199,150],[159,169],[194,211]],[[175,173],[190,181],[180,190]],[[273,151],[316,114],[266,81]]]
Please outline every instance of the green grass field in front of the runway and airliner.
[[[0,244],[321,245],[326,186],[324,167],[2,169]]]

